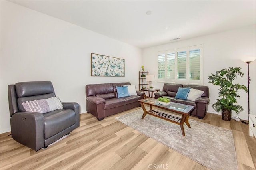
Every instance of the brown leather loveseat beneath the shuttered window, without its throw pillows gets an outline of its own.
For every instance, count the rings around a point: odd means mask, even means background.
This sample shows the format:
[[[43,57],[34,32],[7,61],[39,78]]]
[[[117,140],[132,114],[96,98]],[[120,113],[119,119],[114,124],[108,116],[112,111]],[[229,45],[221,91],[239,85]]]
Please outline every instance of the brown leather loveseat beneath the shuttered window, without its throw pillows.
[[[176,93],[179,87],[191,87],[193,89],[202,90],[204,93],[201,97],[197,98],[195,101],[176,99]],[[209,88],[203,85],[182,85],[182,84],[171,84],[165,83],[163,91],[158,91],[154,93],[155,98],[168,97],[170,101],[181,103],[185,105],[192,105],[195,109],[191,112],[191,115],[197,116],[199,119],[203,119],[207,112],[207,105],[209,104]]]

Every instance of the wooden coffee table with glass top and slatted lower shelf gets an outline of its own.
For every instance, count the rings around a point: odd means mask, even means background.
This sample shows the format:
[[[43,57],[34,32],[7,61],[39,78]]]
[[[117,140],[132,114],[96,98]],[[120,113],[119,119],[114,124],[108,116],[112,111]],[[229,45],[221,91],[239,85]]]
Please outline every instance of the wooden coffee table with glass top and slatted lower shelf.
[[[171,102],[170,105],[161,105],[158,103],[158,100],[154,99],[154,98],[141,99],[141,100],[138,100],[138,102],[140,102],[142,109],[144,111],[141,119],[143,119],[147,114],[149,114],[149,115],[164,119],[166,121],[176,123],[176,124],[180,125],[183,136],[185,136],[183,124],[186,123],[186,125],[189,128],[191,128],[190,124],[188,123],[188,118],[189,118],[190,112],[194,109],[194,106],[184,105],[184,104],[174,103],[174,102]],[[149,105],[150,110],[147,111],[145,108],[145,105]],[[161,108],[161,109],[165,109],[167,111],[179,113],[182,115],[182,117],[180,118],[180,117],[176,117],[173,114],[162,113],[160,111],[156,111],[156,110],[152,109],[152,106]]]

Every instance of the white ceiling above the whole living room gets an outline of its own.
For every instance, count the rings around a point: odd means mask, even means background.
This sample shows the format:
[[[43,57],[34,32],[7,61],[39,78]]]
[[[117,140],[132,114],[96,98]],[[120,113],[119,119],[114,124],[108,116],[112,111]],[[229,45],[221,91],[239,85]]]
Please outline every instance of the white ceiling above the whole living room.
[[[10,2],[142,49],[256,24],[255,0]]]

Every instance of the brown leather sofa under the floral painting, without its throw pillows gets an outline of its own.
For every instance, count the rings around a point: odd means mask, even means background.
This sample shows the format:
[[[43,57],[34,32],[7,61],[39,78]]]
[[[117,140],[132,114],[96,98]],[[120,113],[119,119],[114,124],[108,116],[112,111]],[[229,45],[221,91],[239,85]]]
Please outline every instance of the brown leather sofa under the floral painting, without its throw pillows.
[[[117,98],[116,86],[124,85],[131,85],[131,83],[86,85],[86,111],[101,121],[104,117],[140,106],[138,100],[144,98],[144,92],[142,91],[136,91],[137,95]]]

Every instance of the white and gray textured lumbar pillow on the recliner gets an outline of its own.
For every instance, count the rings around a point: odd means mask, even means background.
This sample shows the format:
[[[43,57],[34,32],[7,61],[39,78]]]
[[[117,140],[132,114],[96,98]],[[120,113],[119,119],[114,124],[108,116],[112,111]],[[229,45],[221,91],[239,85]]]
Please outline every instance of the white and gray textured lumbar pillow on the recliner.
[[[25,111],[47,113],[57,109],[63,109],[63,106],[58,97],[51,97],[48,99],[26,101],[22,103]]]

